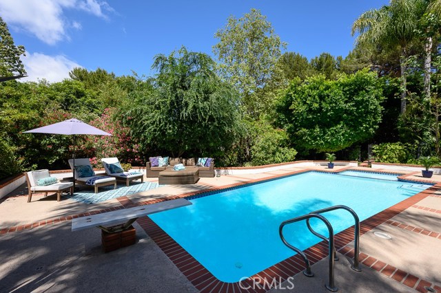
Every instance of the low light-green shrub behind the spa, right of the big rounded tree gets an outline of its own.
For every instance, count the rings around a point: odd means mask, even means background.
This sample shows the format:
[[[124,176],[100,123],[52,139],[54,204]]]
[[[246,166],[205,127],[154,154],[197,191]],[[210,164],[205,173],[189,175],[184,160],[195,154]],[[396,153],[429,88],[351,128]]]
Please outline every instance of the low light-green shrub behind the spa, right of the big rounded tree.
[[[413,157],[414,146],[401,142],[386,142],[373,146],[376,161],[383,163],[407,163]]]

